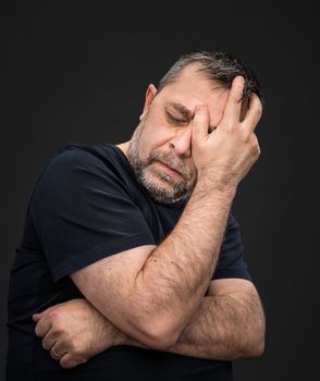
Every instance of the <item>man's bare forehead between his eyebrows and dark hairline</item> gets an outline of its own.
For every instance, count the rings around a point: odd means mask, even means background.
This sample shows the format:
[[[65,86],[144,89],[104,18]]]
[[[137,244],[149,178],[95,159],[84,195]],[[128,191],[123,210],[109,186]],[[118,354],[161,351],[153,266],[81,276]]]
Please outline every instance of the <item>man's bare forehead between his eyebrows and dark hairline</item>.
[[[192,113],[195,112],[197,105],[207,105],[210,122],[214,125],[222,118],[227,95],[227,88],[208,79],[202,72],[197,71],[197,66],[192,66],[186,67],[174,83],[165,86],[160,91],[159,98],[165,105],[180,103]]]

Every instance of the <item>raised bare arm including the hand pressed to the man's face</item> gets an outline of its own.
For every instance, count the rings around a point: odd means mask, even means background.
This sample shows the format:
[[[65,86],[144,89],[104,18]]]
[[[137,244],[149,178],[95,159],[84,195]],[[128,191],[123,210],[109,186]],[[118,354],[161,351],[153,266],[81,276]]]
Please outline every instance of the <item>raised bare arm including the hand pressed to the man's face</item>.
[[[167,239],[158,247],[116,254],[71,275],[104,317],[149,347],[172,346],[199,308],[236,186],[259,155],[253,131],[261,105],[253,97],[246,118],[239,122],[242,91],[243,83],[234,81],[214,134],[208,133],[208,110],[196,112],[193,156],[198,181]]]

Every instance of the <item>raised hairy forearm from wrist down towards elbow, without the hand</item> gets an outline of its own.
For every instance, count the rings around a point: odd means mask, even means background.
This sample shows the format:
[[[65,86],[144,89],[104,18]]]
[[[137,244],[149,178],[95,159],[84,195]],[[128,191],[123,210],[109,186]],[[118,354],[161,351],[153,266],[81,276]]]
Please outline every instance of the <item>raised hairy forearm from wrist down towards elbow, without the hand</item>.
[[[233,196],[195,188],[176,226],[137,275],[133,303],[146,321],[150,314],[160,316],[181,334],[212,278]]]

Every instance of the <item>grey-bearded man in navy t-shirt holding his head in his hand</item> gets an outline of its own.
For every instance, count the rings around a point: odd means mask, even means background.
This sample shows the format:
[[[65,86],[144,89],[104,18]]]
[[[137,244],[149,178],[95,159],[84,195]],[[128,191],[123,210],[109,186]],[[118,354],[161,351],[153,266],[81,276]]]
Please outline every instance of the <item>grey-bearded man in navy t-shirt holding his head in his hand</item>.
[[[149,85],[130,142],[50,160],[11,273],[9,380],[232,380],[261,355],[231,213],[259,96],[238,58],[189,53]]]

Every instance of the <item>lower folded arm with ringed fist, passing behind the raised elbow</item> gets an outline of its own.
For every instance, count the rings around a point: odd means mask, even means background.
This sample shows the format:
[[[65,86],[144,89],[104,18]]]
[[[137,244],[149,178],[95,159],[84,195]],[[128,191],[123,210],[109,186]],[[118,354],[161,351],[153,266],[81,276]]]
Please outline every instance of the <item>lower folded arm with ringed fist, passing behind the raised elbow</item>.
[[[264,345],[264,316],[254,284],[241,279],[211,282],[209,296],[177,342],[167,352],[208,359],[259,356]],[[127,336],[87,300],[74,299],[35,316],[42,345],[54,345],[61,366],[73,368],[115,345],[145,347]],[[54,358],[54,357],[53,357]]]

